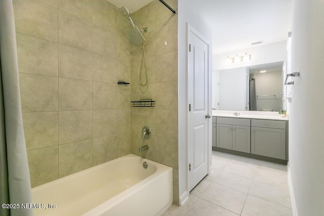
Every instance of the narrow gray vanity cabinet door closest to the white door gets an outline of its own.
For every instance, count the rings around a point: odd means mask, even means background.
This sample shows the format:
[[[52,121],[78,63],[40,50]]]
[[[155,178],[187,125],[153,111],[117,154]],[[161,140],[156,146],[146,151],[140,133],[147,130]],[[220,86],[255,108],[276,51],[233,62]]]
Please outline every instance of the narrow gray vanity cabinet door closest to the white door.
[[[232,149],[232,125],[216,124],[216,147]]]

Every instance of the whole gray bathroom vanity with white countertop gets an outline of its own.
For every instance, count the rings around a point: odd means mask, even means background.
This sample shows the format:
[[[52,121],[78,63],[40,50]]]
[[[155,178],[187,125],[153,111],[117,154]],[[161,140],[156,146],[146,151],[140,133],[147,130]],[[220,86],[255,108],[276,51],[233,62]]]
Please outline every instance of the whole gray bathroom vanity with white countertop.
[[[213,150],[288,161],[288,117],[274,112],[213,112]]]

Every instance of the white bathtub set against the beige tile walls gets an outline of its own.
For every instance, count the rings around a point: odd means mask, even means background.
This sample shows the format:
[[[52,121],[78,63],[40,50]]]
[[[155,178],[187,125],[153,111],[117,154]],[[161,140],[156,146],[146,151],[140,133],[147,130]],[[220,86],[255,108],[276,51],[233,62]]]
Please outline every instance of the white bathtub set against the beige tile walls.
[[[129,154],[32,188],[34,213],[160,215],[173,202],[172,182],[171,167]]]

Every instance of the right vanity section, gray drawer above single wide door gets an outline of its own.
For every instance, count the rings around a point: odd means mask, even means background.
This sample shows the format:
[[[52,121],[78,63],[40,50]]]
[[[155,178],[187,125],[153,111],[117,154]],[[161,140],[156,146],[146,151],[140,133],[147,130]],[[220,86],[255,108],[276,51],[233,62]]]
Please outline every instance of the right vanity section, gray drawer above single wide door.
[[[251,119],[251,153],[286,159],[286,122]]]

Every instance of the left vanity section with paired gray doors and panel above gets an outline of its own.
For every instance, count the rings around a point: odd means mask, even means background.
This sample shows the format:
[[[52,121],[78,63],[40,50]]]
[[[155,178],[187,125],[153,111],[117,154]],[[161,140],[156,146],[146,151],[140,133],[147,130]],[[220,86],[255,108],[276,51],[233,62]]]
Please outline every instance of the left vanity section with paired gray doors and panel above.
[[[216,147],[251,153],[250,119],[217,117]]]

